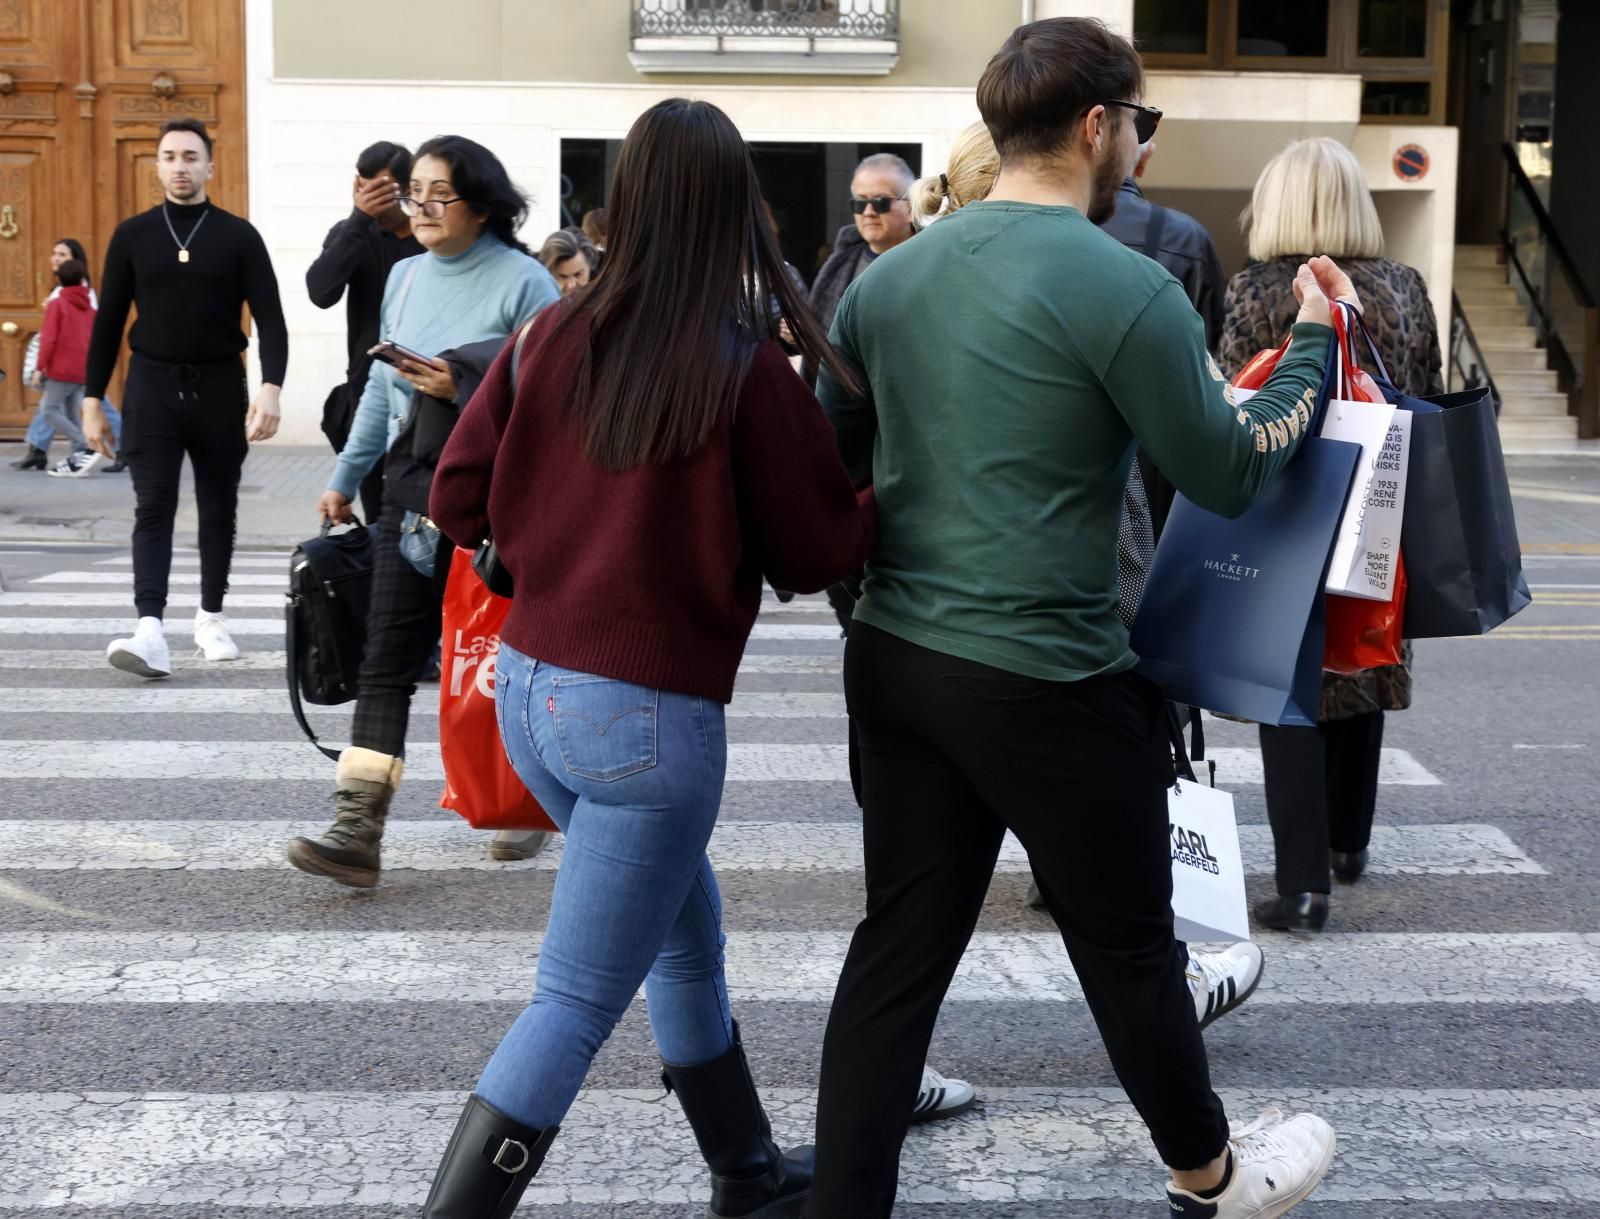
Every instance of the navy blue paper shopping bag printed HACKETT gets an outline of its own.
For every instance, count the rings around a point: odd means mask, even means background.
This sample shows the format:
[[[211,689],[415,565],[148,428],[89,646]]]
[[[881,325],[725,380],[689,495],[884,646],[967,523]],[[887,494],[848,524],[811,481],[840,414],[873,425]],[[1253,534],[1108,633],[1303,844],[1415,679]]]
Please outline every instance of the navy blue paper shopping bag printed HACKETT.
[[[1360,445],[1309,437],[1234,520],[1182,494],[1133,622],[1139,669],[1174,702],[1317,723],[1323,592]]]

